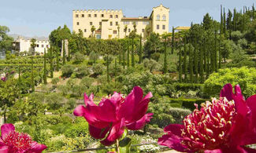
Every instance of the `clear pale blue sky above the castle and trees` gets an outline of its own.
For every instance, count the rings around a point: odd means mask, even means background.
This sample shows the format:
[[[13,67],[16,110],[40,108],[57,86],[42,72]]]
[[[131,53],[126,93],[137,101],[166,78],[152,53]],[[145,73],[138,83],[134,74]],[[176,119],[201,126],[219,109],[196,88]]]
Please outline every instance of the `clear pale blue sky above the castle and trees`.
[[[48,37],[50,32],[66,24],[72,31],[73,9],[122,9],[124,16],[150,16],[160,4],[168,7],[169,26],[201,23],[206,13],[220,20],[220,6],[228,9],[251,7],[254,0],[0,0],[0,25],[9,34]],[[256,2],[255,2],[256,5]],[[226,11],[227,12],[227,11]],[[169,27],[169,29],[171,29]]]

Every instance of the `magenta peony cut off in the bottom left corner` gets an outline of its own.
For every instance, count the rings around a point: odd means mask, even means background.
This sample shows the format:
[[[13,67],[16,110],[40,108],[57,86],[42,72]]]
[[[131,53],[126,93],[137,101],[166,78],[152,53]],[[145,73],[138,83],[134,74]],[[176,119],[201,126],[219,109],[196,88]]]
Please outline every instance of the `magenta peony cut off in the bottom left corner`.
[[[33,141],[28,134],[16,132],[13,124],[6,123],[1,126],[1,153],[39,153],[46,148],[46,145]]]

